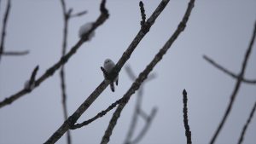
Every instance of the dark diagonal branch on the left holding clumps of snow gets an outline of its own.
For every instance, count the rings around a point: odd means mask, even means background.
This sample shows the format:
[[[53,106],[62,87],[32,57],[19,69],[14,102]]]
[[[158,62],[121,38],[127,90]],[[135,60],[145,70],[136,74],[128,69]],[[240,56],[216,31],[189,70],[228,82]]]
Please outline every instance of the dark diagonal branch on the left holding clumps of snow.
[[[102,2],[104,2],[104,0]],[[103,10],[103,11],[106,12],[106,10]],[[107,11],[107,13],[101,13],[101,15],[98,17],[96,22],[91,27],[90,31],[88,31],[87,33],[84,34],[84,36],[79,40],[79,42],[76,43],[72,49],[70,49],[70,51],[67,53],[67,55],[62,56],[61,60],[59,60],[57,63],[55,63],[55,65],[49,67],[49,69],[46,70],[46,72],[44,72],[44,74],[40,78],[38,78],[38,80],[35,82],[35,87],[38,87],[39,84],[44,82],[45,79],[52,76],[55,73],[55,71],[58,70],[62,65],[66,64],[67,60],[69,60],[69,58],[77,52],[77,50],[80,48],[80,46],[88,40],[90,33],[95,31],[96,28],[98,26],[101,26],[107,19],[108,19],[108,11]],[[107,85],[105,85],[105,86],[107,86]],[[0,108],[11,104],[13,101],[19,99],[22,95],[26,95],[27,93],[28,92],[26,91],[26,89],[21,89],[15,95],[11,95],[8,98],[5,98],[3,101],[0,101]]]

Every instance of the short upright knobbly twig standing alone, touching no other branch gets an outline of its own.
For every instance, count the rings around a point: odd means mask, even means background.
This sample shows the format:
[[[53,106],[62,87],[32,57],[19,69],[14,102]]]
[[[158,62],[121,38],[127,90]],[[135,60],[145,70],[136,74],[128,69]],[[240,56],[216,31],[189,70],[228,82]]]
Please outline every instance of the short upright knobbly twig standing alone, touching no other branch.
[[[189,119],[188,119],[188,107],[187,107],[187,103],[188,103],[188,96],[187,96],[187,91],[186,89],[183,89],[183,123],[184,123],[184,127],[185,127],[185,134],[187,137],[187,143],[191,144],[191,131],[189,130]]]

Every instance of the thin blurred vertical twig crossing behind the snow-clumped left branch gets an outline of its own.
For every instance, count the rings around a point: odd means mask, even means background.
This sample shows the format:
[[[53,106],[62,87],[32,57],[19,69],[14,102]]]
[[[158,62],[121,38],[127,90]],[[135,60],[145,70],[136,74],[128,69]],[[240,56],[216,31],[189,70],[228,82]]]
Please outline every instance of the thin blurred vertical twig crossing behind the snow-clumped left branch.
[[[66,55],[67,51],[67,28],[68,28],[68,20],[69,20],[69,14],[71,13],[71,10],[67,12],[66,3],[64,0],[61,0],[61,8],[62,8],[62,14],[63,14],[63,20],[64,20],[64,28],[63,28],[63,42],[62,42],[62,54],[61,56]],[[67,92],[66,92],[66,80],[65,80],[65,69],[64,65],[61,66],[60,71],[60,77],[61,77],[61,94],[62,94],[62,107],[63,107],[63,113],[64,113],[64,120],[67,120],[68,113],[67,113]],[[71,144],[71,133],[70,130],[67,130],[67,144]]]

